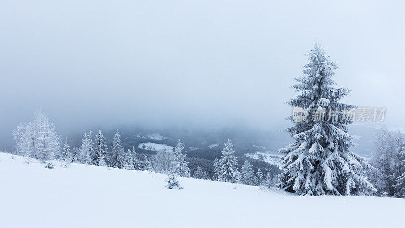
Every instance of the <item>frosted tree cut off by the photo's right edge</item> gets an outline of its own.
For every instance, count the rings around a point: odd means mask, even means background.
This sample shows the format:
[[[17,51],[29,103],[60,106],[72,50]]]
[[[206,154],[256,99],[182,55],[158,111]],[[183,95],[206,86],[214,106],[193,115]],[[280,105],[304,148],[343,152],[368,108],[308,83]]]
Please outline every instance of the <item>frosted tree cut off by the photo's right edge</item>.
[[[398,164],[394,173],[395,177],[395,196],[405,198],[405,141],[401,132],[398,131],[396,138],[398,147]]]

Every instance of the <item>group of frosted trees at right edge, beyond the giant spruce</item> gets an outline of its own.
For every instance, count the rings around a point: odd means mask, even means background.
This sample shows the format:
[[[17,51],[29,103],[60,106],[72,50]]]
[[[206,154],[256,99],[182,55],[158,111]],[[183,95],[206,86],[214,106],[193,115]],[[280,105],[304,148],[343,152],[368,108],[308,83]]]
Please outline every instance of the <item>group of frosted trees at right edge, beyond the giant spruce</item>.
[[[405,141],[383,127],[375,139],[368,177],[380,195],[405,198]]]

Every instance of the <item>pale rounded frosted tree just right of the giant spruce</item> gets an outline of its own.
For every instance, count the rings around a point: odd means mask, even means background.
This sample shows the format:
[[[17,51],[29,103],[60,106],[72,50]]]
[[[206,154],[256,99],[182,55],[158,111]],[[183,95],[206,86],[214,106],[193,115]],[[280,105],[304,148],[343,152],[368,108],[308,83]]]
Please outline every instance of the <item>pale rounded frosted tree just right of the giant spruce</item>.
[[[389,196],[395,194],[395,165],[398,163],[398,148],[394,135],[382,127],[374,139],[375,151],[372,152],[370,164],[375,168],[370,170],[369,179],[377,188],[378,193],[387,191]]]

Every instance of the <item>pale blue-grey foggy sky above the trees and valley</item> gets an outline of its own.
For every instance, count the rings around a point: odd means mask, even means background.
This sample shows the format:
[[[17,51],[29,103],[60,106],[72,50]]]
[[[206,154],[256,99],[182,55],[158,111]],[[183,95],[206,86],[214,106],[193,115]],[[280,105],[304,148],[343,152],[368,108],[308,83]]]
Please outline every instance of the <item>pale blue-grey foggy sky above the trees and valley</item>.
[[[2,1],[0,135],[38,107],[76,128],[282,128],[316,41],[338,62],[346,103],[403,126],[402,3]]]

